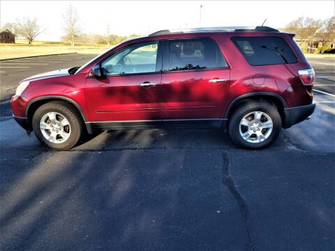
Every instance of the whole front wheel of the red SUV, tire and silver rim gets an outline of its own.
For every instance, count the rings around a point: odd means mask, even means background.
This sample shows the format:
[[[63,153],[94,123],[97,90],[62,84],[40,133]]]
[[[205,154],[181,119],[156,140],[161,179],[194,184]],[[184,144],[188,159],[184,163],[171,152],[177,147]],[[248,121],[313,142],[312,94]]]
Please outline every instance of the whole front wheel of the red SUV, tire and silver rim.
[[[70,149],[77,144],[82,133],[77,110],[64,101],[47,102],[40,106],[32,123],[36,137],[51,149]]]

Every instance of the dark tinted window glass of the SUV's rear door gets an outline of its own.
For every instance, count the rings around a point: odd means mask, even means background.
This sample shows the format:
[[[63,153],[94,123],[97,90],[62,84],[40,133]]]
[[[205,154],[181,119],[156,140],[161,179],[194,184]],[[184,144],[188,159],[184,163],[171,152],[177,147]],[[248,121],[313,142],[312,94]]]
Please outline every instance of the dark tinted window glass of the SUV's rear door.
[[[221,50],[209,38],[169,41],[169,70],[228,67]]]

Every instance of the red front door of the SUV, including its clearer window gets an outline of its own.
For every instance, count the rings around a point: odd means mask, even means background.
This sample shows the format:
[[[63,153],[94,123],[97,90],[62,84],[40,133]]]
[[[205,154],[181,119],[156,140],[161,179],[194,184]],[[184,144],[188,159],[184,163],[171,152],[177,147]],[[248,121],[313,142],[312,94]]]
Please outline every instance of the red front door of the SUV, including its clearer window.
[[[158,41],[136,43],[101,62],[107,77],[88,77],[85,88],[92,121],[161,119],[158,97],[161,56],[158,51]]]

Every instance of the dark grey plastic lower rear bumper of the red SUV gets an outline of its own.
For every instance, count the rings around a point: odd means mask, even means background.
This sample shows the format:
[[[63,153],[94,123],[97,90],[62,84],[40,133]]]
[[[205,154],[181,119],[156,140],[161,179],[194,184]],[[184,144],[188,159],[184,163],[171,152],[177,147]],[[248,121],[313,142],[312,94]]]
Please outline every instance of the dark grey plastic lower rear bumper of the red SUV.
[[[291,126],[304,121],[313,114],[315,109],[315,103],[311,105],[302,105],[299,107],[286,108],[285,121],[283,123],[283,128],[290,128]]]

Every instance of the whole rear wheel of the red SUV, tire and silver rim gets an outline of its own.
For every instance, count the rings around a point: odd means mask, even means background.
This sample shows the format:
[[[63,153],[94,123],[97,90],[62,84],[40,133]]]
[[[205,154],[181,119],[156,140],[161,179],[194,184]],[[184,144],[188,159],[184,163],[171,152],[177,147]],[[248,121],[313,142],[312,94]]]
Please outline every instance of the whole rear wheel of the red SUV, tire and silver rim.
[[[238,107],[228,123],[232,141],[246,149],[269,146],[281,131],[277,107],[267,101],[248,100]]]

